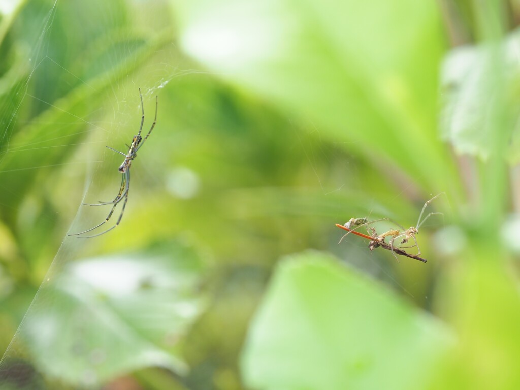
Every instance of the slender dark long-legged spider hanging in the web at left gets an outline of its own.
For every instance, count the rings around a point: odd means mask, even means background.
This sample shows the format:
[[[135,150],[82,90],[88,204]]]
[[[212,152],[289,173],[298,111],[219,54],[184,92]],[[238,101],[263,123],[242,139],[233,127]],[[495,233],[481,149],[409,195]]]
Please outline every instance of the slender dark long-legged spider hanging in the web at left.
[[[119,166],[119,172],[123,176],[121,178],[121,187],[119,188],[118,196],[116,196],[114,198],[114,200],[112,200],[112,202],[100,202],[100,203],[97,203],[97,204],[82,203],[82,205],[84,205],[84,206],[107,206],[107,205],[113,205],[112,209],[108,213],[107,218],[105,218],[105,220],[103,222],[101,222],[100,224],[96,225],[94,228],[85,230],[84,232],[80,232],[80,233],[69,234],[70,236],[80,236],[82,234],[85,234],[85,233],[88,233],[88,232],[92,232],[93,230],[96,230],[101,225],[103,225],[106,222],[108,222],[110,217],[112,217],[112,213],[114,212],[115,207],[122,200],[124,200],[123,208],[121,209],[121,213],[119,215],[118,221],[115,222],[115,225],[113,227],[111,227],[110,229],[107,229],[107,230],[105,230],[105,231],[103,231],[101,233],[98,233],[98,234],[94,234],[94,235],[91,235],[91,236],[82,236],[82,237],[77,237],[77,238],[93,238],[93,237],[98,237],[101,234],[108,233],[112,229],[115,229],[119,225],[119,223],[121,222],[121,218],[123,218],[123,214],[125,212],[126,203],[128,202],[128,190],[130,189],[130,166],[132,165],[132,160],[136,157],[137,151],[141,148],[141,146],[145,144],[145,141],[148,139],[148,136],[150,135],[150,133],[152,132],[153,128],[155,127],[155,122],[157,122],[158,97],[155,96],[155,118],[153,119],[152,127],[148,131],[148,134],[146,134],[145,138],[143,139],[141,137],[141,131],[142,131],[142,125],[145,122],[145,108],[144,108],[144,105],[142,103],[141,89],[139,89],[139,96],[141,98],[141,110],[142,110],[141,125],[139,127],[139,132],[137,133],[137,135],[134,135],[134,138],[132,139],[132,143],[130,145],[126,145],[129,148],[128,149],[128,153],[125,154],[123,152],[120,152],[119,150],[115,150],[115,149],[111,148],[110,146],[107,146],[107,148],[109,148],[110,150],[113,150],[114,152],[117,152],[117,153],[122,154],[123,156],[125,156],[125,159],[124,159],[123,163]]]

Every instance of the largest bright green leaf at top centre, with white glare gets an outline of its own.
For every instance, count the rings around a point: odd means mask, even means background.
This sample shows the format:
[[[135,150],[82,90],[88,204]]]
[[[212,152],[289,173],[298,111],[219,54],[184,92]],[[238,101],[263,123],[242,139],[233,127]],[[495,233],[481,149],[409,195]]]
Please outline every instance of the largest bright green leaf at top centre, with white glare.
[[[444,48],[435,2],[173,3],[189,55],[356,153],[446,186],[451,168],[435,125]]]

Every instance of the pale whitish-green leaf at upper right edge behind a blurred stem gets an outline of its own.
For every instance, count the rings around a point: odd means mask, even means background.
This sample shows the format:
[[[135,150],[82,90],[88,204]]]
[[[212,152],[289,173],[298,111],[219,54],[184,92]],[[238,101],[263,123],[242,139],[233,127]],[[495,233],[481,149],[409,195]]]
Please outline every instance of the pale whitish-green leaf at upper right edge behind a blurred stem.
[[[441,131],[458,153],[488,158],[497,133],[506,132],[512,133],[508,137],[512,143],[502,156],[509,157],[512,163],[520,161],[518,51],[520,30],[497,44],[455,48],[444,60]],[[490,118],[493,105],[510,110],[506,114],[510,126],[501,126]]]

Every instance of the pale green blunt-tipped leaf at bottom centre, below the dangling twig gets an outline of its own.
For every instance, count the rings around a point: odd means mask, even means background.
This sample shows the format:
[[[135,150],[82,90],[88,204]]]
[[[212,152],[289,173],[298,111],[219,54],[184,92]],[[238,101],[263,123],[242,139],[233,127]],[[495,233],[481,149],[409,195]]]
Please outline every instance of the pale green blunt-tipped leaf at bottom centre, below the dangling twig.
[[[309,251],[276,270],[242,355],[257,389],[415,389],[451,344],[433,317]]]

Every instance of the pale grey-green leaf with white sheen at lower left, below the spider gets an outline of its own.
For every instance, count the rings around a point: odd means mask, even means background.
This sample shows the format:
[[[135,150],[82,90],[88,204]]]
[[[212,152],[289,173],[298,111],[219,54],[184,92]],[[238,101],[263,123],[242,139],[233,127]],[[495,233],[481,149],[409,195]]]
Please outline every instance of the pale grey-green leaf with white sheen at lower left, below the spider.
[[[204,271],[178,243],[69,263],[38,292],[23,342],[41,372],[78,386],[150,366],[183,373],[176,346],[203,307]]]

